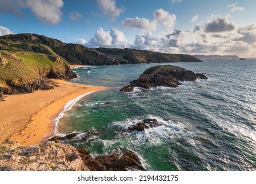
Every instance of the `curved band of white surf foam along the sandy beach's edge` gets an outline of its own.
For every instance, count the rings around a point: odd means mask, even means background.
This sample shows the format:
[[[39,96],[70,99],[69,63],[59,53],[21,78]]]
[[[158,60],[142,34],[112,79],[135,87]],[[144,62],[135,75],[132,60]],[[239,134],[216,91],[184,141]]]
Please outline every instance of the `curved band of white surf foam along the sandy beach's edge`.
[[[103,89],[100,89],[100,90],[96,90],[96,91],[101,91]],[[57,117],[55,118],[54,120],[54,135],[56,135],[57,133],[57,127],[58,127],[58,124],[59,124],[59,120],[61,120],[61,118],[63,118],[64,116],[64,113],[68,110],[70,110],[72,108],[72,106],[74,106],[74,104],[76,104],[78,101],[80,101],[82,98],[84,98],[85,96],[87,95],[90,95],[91,93],[94,93],[96,91],[91,91],[91,92],[88,92],[88,93],[85,93],[83,95],[80,95],[78,97],[76,97],[75,99],[72,99],[71,101],[69,101],[68,103],[65,104],[63,110],[61,111],[61,113],[59,113],[57,115]]]

